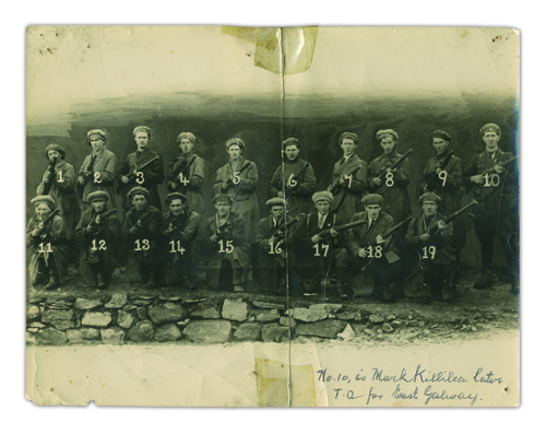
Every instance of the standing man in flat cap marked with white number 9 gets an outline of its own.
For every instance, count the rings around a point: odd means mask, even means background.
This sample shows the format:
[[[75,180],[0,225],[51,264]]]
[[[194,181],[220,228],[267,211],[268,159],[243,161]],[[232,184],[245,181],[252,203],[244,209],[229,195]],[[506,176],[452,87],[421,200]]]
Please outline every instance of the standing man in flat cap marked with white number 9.
[[[450,150],[451,136],[442,130],[432,132],[432,148],[436,153],[425,166],[423,178],[419,181],[419,197],[426,192],[434,192],[440,197],[438,211],[443,215],[450,215],[461,209],[463,195],[463,164],[459,156]],[[455,249],[456,262],[464,247],[466,227],[464,219],[453,222],[453,242],[451,247]]]

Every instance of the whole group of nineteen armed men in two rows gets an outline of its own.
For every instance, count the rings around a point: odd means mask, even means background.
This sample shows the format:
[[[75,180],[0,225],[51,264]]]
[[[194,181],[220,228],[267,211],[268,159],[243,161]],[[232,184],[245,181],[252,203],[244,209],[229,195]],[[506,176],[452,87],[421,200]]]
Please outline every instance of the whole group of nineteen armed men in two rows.
[[[191,291],[201,265],[206,277],[200,284],[210,290],[249,291],[252,275],[264,293],[325,300],[330,278],[342,298],[395,301],[417,279],[429,300],[450,302],[466,233],[462,215],[472,208],[483,262],[474,286],[490,288],[494,257],[501,255],[518,293],[515,157],[499,150],[497,125],[487,124],[479,133],[485,150],[464,169],[450,150],[449,133],[431,134],[436,155],[423,171],[423,212],[415,218],[407,191],[412,150],[396,152],[399,136],[392,129],[377,132],[383,153],[369,165],[355,153],[357,134],[341,134],[343,156],[324,191],[316,191],[312,165],[299,157],[299,140],[287,139],[269,185],[271,214],[260,220],[258,168],[244,157],[240,138],[226,142],[229,161],[213,185],[216,213],[205,216],[205,164],[193,153],[191,132],[178,136],[180,154],[165,174],[162,156],[150,146],[150,128],[134,128],[136,152],[121,167],[107,149],[105,131],[93,129],[87,132],[92,151],[78,175],[61,145],[45,150],[49,166],[26,231],[31,284],[59,286],[72,262],[88,286],[105,289],[119,268],[129,282]],[[169,193],[162,214],[157,186],[164,181]],[[473,190],[474,200],[461,207],[464,188]]]

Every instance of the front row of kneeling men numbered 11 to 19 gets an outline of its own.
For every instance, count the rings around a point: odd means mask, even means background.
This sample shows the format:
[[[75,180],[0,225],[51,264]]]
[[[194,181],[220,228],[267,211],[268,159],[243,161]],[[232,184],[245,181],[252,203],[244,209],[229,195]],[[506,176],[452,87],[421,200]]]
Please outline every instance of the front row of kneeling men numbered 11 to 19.
[[[132,188],[128,198],[132,208],[121,227],[117,211],[107,211],[109,195],[88,195],[92,208],[82,214],[74,232],[83,284],[106,288],[120,261],[131,283],[191,290],[201,257],[209,289],[244,291],[250,281],[250,245],[244,220],[232,211],[228,195],[214,197],[216,214],[206,220],[202,238],[198,238],[200,216],[187,206],[185,195],[169,193],[169,211],[164,215],[149,203],[143,187]],[[372,294],[392,301],[403,295],[410,278],[417,277],[419,289],[425,289],[423,295],[450,301],[456,271],[450,247],[452,223],[438,214],[437,195],[427,192],[419,200],[423,214],[394,225],[393,218],[381,211],[383,198],[376,193],[364,197],[365,211],[354,214],[351,222],[332,212],[334,199],[329,191],[316,192],[316,211],[298,219],[286,214],[284,199],[270,199],[271,215],[258,227],[253,279],[263,292],[310,293],[324,300],[327,279],[334,274],[341,297]],[[46,289],[55,289],[67,273],[69,260],[61,235],[63,222],[49,196],[38,196],[32,203],[36,216],[26,232],[32,247],[31,283],[44,282]]]

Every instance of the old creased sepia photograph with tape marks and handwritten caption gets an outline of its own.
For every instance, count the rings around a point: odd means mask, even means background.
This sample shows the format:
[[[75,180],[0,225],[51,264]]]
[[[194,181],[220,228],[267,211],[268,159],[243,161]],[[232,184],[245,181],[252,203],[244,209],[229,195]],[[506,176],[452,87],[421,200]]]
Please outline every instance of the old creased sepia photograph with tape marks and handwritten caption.
[[[519,406],[517,30],[26,37],[31,401]]]

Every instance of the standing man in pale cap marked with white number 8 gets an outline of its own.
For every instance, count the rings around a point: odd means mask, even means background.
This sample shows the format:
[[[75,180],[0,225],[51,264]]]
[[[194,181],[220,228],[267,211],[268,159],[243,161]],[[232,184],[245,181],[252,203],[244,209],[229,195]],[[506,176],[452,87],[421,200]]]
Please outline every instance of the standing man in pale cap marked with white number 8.
[[[391,215],[396,224],[410,214],[410,196],[407,195],[410,162],[405,159],[400,166],[391,169],[391,166],[402,157],[396,151],[399,140],[396,131],[380,130],[377,139],[383,149],[383,154],[370,163],[368,189],[369,192],[383,197],[382,210]],[[387,175],[381,178],[379,175],[383,169],[387,169]]]

